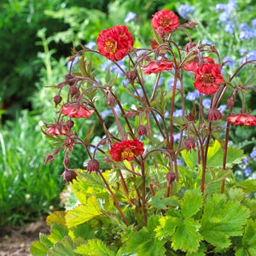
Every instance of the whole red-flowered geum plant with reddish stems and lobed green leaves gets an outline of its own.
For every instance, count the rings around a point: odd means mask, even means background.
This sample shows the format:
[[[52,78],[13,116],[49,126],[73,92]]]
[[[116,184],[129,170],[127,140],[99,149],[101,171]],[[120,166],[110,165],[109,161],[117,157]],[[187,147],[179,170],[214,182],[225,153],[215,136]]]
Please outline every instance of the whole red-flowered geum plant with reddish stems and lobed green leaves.
[[[152,49],[133,48],[127,26],[100,32],[98,51],[83,45],[73,49],[70,61],[79,57],[80,71],[72,73],[70,67],[65,81],[55,86],[55,107],[61,108],[44,131],[56,147],[45,163],[64,151],[62,175],[70,182],[61,195],[66,211],[49,215],[51,234],[40,234],[33,255],[256,255],[255,201],[249,196],[255,182],[236,181],[232,167],[244,155],[229,144],[230,125],[256,125],[244,101],[241,112],[233,113],[236,96],[243,99],[255,90],[253,75],[246,81],[236,77],[256,60],[224,74],[214,45],[191,41],[188,29],[195,22],[179,25],[177,15],[163,9],[151,24]],[[178,31],[189,40],[185,47],[172,40]],[[96,79],[92,61],[85,60],[90,52],[113,61],[129,83],[109,71],[105,81]],[[124,58],[126,70],[118,62]],[[194,76],[199,104],[186,106],[186,73]],[[166,74],[172,87],[161,88]],[[64,101],[61,93],[67,89]],[[211,96],[207,112],[203,96]],[[131,106],[122,103],[126,98]],[[103,102],[115,129],[102,119]],[[226,102],[227,117],[218,109],[220,102]],[[181,117],[174,116],[176,106]],[[83,125],[81,119],[98,119],[102,139],[91,143],[94,125],[79,137],[74,129]],[[77,169],[69,167],[77,145],[88,155],[87,170],[82,161]]]

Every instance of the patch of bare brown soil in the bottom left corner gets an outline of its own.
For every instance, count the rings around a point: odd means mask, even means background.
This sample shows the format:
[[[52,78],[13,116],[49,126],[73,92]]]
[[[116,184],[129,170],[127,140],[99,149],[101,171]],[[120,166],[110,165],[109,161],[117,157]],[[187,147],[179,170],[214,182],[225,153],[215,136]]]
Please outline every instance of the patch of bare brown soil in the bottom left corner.
[[[32,241],[39,240],[39,232],[49,235],[49,226],[43,220],[22,227],[0,228],[0,256],[27,256]]]

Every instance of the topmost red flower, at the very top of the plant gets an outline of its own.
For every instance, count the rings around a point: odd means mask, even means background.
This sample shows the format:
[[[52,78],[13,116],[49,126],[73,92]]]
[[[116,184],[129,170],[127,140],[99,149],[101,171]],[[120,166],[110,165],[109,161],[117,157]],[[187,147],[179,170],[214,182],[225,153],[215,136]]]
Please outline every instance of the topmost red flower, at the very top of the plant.
[[[156,32],[160,36],[163,36],[164,33],[177,29],[178,18],[172,11],[162,9],[154,15],[151,24],[154,26]]]

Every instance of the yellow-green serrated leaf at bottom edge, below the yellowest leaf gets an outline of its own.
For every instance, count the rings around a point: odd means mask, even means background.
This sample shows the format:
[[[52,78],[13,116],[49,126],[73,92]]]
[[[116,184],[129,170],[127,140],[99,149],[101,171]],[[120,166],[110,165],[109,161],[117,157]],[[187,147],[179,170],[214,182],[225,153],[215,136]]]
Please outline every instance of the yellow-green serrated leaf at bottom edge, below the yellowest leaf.
[[[101,240],[91,239],[87,240],[85,244],[77,247],[74,252],[90,255],[90,256],[115,256],[113,253]]]

